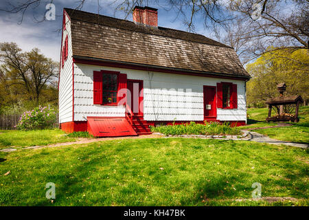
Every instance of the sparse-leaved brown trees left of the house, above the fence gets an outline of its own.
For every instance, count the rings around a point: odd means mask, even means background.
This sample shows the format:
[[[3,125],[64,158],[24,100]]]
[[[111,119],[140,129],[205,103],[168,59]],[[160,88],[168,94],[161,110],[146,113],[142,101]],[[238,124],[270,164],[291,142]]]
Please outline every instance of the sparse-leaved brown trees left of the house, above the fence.
[[[16,43],[0,43],[0,104],[11,106],[19,100],[38,106],[57,102],[58,63],[40,50],[22,52]]]

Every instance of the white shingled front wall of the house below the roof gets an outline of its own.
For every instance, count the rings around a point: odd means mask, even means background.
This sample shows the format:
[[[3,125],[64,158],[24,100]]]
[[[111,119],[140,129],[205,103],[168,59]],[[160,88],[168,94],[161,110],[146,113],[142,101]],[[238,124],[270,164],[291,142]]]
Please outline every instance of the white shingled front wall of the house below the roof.
[[[246,120],[244,82],[181,74],[164,74],[115,67],[74,64],[74,120],[87,116],[124,117],[124,107],[93,105],[93,71],[102,69],[127,74],[128,79],[144,80],[145,120],[203,121],[203,85],[230,82],[238,85],[238,109],[217,109],[218,120]]]

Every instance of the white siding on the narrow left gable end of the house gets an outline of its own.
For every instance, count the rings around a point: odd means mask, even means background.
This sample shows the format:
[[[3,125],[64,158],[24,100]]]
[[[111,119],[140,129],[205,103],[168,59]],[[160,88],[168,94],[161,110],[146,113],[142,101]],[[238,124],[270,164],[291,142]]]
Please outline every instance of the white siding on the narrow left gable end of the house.
[[[59,122],[73,121],[73,74],[72,74],[72,47],[71,47],[71,21],[65,16],[66,30],[62,34],[62,47],[65,37],[68,36],[68,57],[62,68],[60,58],[60,81],[59,81]],[[62,48],[61,48],[62,50]]]

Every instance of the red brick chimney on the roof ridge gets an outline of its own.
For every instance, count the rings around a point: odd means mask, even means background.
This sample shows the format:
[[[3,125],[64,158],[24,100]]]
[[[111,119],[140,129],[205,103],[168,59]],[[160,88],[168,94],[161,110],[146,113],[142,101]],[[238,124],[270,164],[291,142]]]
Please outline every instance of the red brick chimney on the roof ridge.
[[[133,21],[157,28],[158,10],[157,8],[135,6],[133,10]]]

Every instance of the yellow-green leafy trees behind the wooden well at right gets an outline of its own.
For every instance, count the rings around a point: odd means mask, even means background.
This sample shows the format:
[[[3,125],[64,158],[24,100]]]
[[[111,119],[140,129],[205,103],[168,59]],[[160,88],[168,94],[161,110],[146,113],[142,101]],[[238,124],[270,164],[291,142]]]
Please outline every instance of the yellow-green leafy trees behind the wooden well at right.
[[[308,50],[275,50],[260,56],[247,65],[252,79],[247,83],[247,104],[253,107],[265,106],[268,98],[279,96],[277,84],[286,83],[286,96],[301,95],[304,104],[309,100]]]

